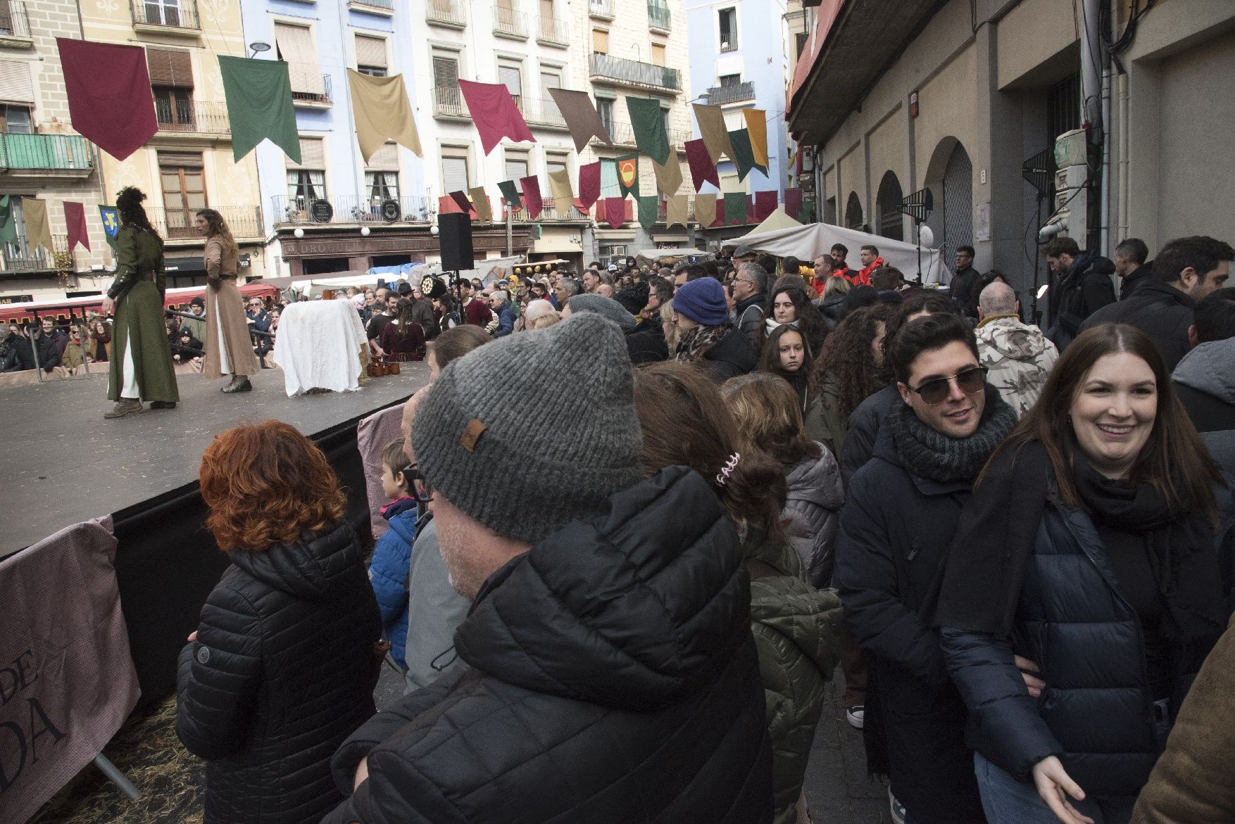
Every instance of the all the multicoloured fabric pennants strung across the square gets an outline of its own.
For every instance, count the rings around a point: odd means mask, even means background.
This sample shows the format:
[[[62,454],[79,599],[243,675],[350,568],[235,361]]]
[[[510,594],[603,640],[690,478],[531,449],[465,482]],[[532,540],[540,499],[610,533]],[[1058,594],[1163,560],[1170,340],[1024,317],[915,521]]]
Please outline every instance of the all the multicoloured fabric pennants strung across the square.
[[[93,43],[57,38],[64,84],[69,99],[73,127],[117,160],[136,152],[158,130],[144,49],[137,46]],[[232,157],[238,163],[262,141],[269,139],[295,163],[300,163],[300,139],[296,130],[288,64],[282,60],[219,56],[227,116],[231,120]],[[106,65],[107,72],[98,67]],[[366,162],[388,141],[424,157],[420,134],[403,75],[372,76],[347,69],[356,139]],[[503,139],[535,143],[522,112],[515,105],[505,84],[459,80],[459,91],[471,112],[472,122],[488,155]],[[600,117],[595,104],[583,91],[550,89],[550,95],[566,122],[577,152],[592,139],[613,147],[614,139]],[[661,216],[668,226],[687,225],[688,195],[680,194],[682,167],[669,143],[668,130],[655,97],[626,97],[636,152],[613,159],[597,160],[578,169],[578,192],[572,187],[568,171],[550,174],[548,204],[564,213],[571,207],[582,213],[595,210],[595,220],[609,226],[621,226],[637,217],[650,228]],[[704,226],[727,226],[735,222],[762,221],[778,206],[776,191],[755,195],[743,192],[703,192],[705,184],[720,187],[716,165],[729,158],[737,169],[739,180],[752,170],[768,174],[768,137],[766,112],[742,110],[742,128],[730,130],[724,110],[718,105],[694,104],[700,137],[685,141],[687,165],[695,194],[695,220]],[[640,191],[640,163],[651,163],[656,194]],[[604,190],[616,185],[620,196],[601,197]],[[536,220],[546,207],[537,176],[504,180],[498,184],[506,208],[522,208]],[[632,199],[631,202],[627,199]],[[463,212],[478,221],[492,221],[493,208],[483,186],[450,192],[438,199],[440,211]],[[30,204],[37,204],[30,206]],[[804,199],[800,187],[787,189],[784,210],[803,220],[814,204]],[[33,228],[46,225],[46,201],[23,199],[23,215],[31,242]],[[69,227],[69,245],[89,247],[85,234],[85,213],[80,204],[64,202]],[[713,218],[713,216],[715,216]],[[109,243],[114,243],[119,220],[114,208],[100,207],[100,220]],[[5,222],[7,221],[7,223]],[[43,221],[43,225],[40,223]],[[109,223],[110,221],[110,223]],[[14,237],[9,199],[0,199],[0,238]],[[37,236],[42,242],[42,234]],[[51,249],[51,236],[46,237]]]

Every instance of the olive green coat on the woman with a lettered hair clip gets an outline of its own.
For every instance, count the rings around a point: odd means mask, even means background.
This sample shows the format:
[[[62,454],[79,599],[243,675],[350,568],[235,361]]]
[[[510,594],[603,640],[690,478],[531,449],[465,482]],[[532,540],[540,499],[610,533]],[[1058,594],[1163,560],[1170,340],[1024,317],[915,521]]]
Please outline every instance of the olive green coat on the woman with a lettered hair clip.
[[[752,530],[742,543],[751,574],[751,632],[760,655],[776,824],[797,820],[824,683],[836,667],[841,599],[806,582],[802,558],[787,542]]]

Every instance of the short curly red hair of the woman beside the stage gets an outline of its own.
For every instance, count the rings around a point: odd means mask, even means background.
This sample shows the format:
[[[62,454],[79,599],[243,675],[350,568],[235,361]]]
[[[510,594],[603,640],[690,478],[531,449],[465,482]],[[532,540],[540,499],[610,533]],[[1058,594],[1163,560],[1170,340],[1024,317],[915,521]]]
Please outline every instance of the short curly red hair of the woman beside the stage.
[[[220,433],[201,456],[206,528],[219,548],[266,551],[343,518],[347,498],[326,456],[282,421]]]

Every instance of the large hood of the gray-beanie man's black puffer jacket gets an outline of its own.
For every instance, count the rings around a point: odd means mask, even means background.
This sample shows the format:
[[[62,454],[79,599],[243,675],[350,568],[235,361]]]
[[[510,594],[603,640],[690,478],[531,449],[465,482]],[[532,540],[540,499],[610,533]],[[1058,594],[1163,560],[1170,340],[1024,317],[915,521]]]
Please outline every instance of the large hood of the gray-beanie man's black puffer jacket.
[[[534,692],[648,712],[714,681],[748,620],[732,522],[700,475],[671,466],[489,576],[454,649]]]

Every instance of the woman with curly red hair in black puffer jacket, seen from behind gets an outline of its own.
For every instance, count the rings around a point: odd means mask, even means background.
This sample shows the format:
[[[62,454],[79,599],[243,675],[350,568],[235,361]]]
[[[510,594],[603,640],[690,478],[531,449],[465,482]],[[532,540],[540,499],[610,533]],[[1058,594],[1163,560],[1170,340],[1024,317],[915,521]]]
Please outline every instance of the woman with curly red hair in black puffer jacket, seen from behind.
[[[207,761],[205,824],[319,822],[343,799],[330,756],[374,713],[382,632],[347,501],[279,421],[217,435],[200,484],[232,564],[180,653],[175,731]]]

